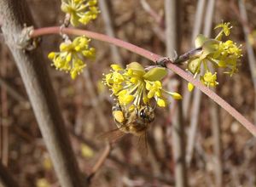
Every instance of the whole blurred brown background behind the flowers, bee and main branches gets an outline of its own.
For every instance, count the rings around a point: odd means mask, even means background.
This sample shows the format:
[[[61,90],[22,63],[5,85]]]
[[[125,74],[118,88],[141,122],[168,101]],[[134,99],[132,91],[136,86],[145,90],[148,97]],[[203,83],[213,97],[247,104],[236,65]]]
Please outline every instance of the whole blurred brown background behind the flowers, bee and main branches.
[[[61,25],[65,16],[60,10],[61,1],[27,2],[38,27]],[[95,21],[81,28],[113,34],[166,56],[164,0],[103,2],[100,9],[107,8],[109,14],[102,9]],[[209,10],[212,10],[212,20],[207,20],[211,14]],[[178,23],[173,24],[180,27],[178,54],[194,48],[195,34],[206,32],[208,24],[212,25],[209,34],[214,37],[217,33],[214,26],[222,21],[231,23],[230,38],[242,44],[243,57],[235,76],[219,74],[216,92],[255,124],[255,87],[251,73],[255,70],[248,60],[255,63],[255,0],[183,0],[177,12],[180,17]],[[87,60],[84,73],[73,81],[67,73],[55,71],[47,59],[49,52],[58,50],[61,37],[42,39],[45,65],[49,68],[79,167],[84,173],[90,173],[106,146],[97,136],[116,127],[112,117],[113,99],[109,97],[108,88],[102,85],[102,73],[108,72],[113,63],[127,65],[137,61],[152,65],[152,62],[123,48],[111,48],[108,43],[91,40],[91,46],[96,48],[96,60]],[[59,186],[19,71],[2,38],[0,67],[1,160],[22,187]],[[165,82],[170,91],[175,91],[181,83],[173,75]],[[256,140],[253,135],[226,111],[212,105],[206,95],[196,94],[196,91],[189,94],[186,85],[183,82],[181,93],[186,95],[183,99],[185,136],[181,146],[186,150],[187,177],[183,180],[187,180],[189,186],[256,186]],[[178,143],[172,139],[172,116],[176,104],[173,102],[171,109],[155,111],[155,120],[148,129],[148,156],[143,156],[135,137],[126,136],[113,145],[110,156],[91,179],[91,186],[174,186],[173,145]]]

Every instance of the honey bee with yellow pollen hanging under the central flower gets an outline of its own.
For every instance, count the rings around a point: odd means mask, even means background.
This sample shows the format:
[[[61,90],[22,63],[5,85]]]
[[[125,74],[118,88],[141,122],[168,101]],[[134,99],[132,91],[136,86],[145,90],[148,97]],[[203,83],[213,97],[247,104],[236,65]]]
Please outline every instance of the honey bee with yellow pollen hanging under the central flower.
[[[124,137],[125,134],[131,133],[139,138],[138,146],[147,150],[147,129],[149,123],[154,121],[154,108],[149,105],[142,105],[129,110],[117,103],[113,105],[112,113],[117,128],[104,133],[102,138],[115,142]]]

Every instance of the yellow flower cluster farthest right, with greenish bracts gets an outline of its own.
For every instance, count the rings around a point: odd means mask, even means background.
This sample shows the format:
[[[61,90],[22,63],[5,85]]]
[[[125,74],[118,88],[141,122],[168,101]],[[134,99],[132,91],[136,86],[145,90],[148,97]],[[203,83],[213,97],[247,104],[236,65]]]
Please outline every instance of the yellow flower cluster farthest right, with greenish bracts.
[[[195,39],[195,47],[201,48],[201,53],[196,54],[188,60],[188,70],[197,77],[201,75],[201,82],[207,87],[216,87],[217,72],[211,72],[208,63],[212,63],[216,68],[225,68],[224,73],[232,76],[237,71],[237,62],[241,58],[241,46],[237,46],[236,42],[228,40],[222,41],[223,36],[230,35],[230,23],[222,23],[215,27],[221,28],[217,37],[214,39],[198,35]],[[189,91],[193,90],[191,83],[188,85]]]

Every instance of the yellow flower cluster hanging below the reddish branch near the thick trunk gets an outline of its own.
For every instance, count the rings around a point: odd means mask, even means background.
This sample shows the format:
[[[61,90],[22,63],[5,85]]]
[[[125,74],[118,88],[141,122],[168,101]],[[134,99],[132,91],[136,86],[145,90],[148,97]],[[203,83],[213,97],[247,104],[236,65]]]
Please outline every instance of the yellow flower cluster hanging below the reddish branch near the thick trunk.
[[[90,39],[86,37],[76,37],[73,42],[61,42],[60,52],[51,52],[48,58],[57,70],[67,71],[75,79],[86,66],[83,58],[95,57],[95,48],[90,48],[89,42]]]

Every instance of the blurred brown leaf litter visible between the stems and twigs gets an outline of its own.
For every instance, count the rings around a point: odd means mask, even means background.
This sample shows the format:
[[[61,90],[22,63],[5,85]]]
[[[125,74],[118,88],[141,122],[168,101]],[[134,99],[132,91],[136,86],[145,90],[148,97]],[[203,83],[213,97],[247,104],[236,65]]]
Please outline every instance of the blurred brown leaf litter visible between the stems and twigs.
[[[60,25],[64,17],[60,11],[60,1],[29,0],[28,2],[38,27]],[[142,8],[140,1],[111,0],[110,2],[110,12],[116,37],[147,48],[155,54],[165,55],[165,43],[159,37],[161,33],[154,30],[157,27],[164,29],[164,26],[155,22],[154,18]],[[148,3],[157,14],[163,16],[164,1],[148,0]],[[246,1],[249,26],[252,29],[256,27],[255,5],[253,0]],[[230,37],[237,43],[243,44],[243,58],[237,75],[231,78],[222,75],[218,77],[217,93],[246,116],[249,121],[253,122],[254,90],[247,62],[243,25],[241,25],[240,14],[236,13],[232,6],[232,1],[217,1],[213,25],[222,20],[231,22],[233,29]],[[195,8],[196,1],[184,1],[181,10],[183,17],[182,22],[180,22],[182,26],[182,52],[191,48],[190,41],[195,22]],[[105,26],[101,14],[85,29],[104,33]],[[88,60],[88,71],[72,81],[65,72],[55,71],[50,66],[49,59],[46,58],[50,51],[58,50],[59,42],[61,42],[59,36],[43,38],[41,47],[44,49],[45,65],[49,67],[51,80],[61,105],[61,113],[69,129],[73,149],[79,160],[79,167],[84,173],[90,173],[90,168],[105,146],[104,143],[96,140],[96,136],[115,128],[111,115],[112,101],[108,96],[110,93],[108,89],[102,88],[100,83],[102,73],[108,72],[108,67],[113,63],[113,59],[107,43],[92,41],[91,45],[96,48],[96,60],[94,62]],[[254,46],[255,43],[254,40]],[[10,171],[20,186],[36,186],[40,178],[45,178],[50,186],[58,186],[53,167],[50,167],[49,164],[49,155],[44,146],[44,140],[41,137],[32,108],[27,102],[23,82],[9,49],[3,42],[0,44],[0,53],[1,79],[6,81],[11,88],[14,88],[16,94],[22,96],[17,99],[12,94],[6,94],[5,89],[0,87],[2,95],[0,119],[3,125],[9,127],[8,138],[2,137],[3,144],[9,139],[9,151],[8,155],[2,157],[8,158]],[[143,59],[137,54],[131,54],[125,49],[119,48],[119,53],[123,65],[131,61],[139,61],[144,65],[150,63],[147,59]],[[93,90],[92,94],[90,94],[91,90]],[[213,139],[209,108],[209,99],[203,95],[195,153],[191,166],[188,168],[191,186],[216,186],[214,184],[215,157],[212,150]],[[224,186],[255,186],[255,139],[226,111],[219,108],[218,112],[222,130]],[[119,144],[114,145],[111,153],[113,158],[107,159],[103,167],[96,173],[92,179],[92,186],[172,186],[170,184],[174,173],[172,124],[169,122],[169,117],[168,110],[158,109],[156,111],[156,119],[148,130],[148,156],[143,157],[135,145],[136,139],[132,139],[132,137],[126,137]],[[186,130],[189,130],[190,117],[186,122]],[[85,143],[78,137],[89,142],[85,146]],[[132,141],[135,141],[135,144]],[[87,146],[94,148],[93,145],[96,145],[98,149],[90,152],[90,148]]]

